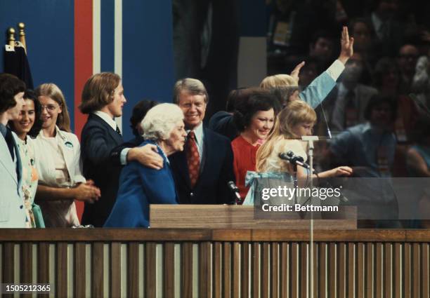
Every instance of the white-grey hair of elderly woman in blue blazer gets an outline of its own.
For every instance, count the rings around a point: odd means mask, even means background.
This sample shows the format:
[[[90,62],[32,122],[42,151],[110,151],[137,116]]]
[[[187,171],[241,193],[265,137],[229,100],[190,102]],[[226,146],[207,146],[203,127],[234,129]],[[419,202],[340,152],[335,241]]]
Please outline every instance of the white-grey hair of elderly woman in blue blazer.
[[[183,111],[176,104],[157,104],[141,122],[145,140],[167,140],[178,121],[183,120]]]

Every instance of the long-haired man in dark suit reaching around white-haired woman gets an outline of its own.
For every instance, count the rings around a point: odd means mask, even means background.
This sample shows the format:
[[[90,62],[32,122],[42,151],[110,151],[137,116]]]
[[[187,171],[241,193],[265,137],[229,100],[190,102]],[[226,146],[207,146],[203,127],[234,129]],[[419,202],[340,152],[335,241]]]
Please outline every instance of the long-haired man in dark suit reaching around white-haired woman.
[[[117,198],[119,173],[122,163],[112,163],[112,149],[122,144],[122,135],[114,118],[122,116],[126,102],[121,78],[103,72],[86,81],[82,90],[82,113],[89,114],[81,135],[83,173],[100,188],[96,202],[85,203],[82,224],[103,226]],[[129,149],[118,156],[121,160],[145,160],[145,152],[152,153],[155,146]],[[148,158],[146,158],[148,160]]]

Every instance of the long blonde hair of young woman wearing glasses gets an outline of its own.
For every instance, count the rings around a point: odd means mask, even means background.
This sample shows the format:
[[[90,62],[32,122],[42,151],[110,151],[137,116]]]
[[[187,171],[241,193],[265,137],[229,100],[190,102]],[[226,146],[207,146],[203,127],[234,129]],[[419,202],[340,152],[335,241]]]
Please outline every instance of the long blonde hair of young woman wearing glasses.
[[[61,92],[60,88],[58,88],[58,86],[54,83],[44,83],[37,87],[35,92],[37,93],[38,97],[49,97],[51,98],[51,100],[54,100],[60,105],[61,113],[58,114],[56,125],[58,126],[58,128],[60,128],[60,130],[65,130],[70,133],[71,130],[69,111],[67,110],[67,104],[65,102],[63,92]]]

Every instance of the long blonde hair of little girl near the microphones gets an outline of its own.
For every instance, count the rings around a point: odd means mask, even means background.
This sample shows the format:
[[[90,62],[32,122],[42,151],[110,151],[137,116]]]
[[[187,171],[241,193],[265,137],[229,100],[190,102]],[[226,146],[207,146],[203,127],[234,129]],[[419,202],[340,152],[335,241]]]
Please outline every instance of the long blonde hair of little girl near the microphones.
[[[289,102],[282,109],[275,120],[271,135],[256,153],[256,170],[265,172],[266,159],[271,155],[275,144],[280,140],[295,139],[299,136],[294,134],[292,128],[299,123],[315,123],[316,113],[309,104],[301,100]]]

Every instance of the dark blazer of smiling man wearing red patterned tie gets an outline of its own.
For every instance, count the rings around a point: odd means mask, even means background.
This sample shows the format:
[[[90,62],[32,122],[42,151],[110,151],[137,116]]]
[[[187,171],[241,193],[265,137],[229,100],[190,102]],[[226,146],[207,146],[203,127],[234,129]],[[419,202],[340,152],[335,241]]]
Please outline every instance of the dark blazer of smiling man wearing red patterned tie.
[[[179,203],[230,203],[232,196],[228,190],[227,182],[235,181],[230,140],[208,128],[203,128],[203,131],[203,156],[200,163],[200,175],[194,188],[190,186],[185,149],[169,156]]]

